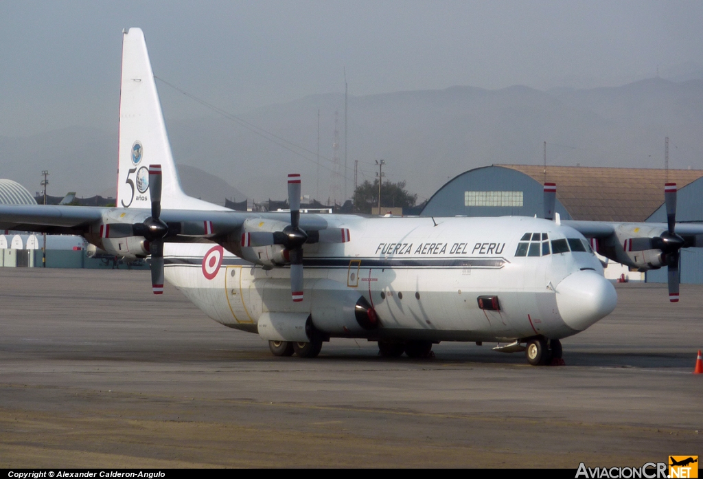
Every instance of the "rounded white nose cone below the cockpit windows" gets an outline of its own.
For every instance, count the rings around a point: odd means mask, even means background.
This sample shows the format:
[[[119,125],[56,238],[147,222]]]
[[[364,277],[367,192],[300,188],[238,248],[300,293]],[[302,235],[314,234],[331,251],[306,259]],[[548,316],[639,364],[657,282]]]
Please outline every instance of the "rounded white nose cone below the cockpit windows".
[[[559,314],[576,331],[594,324],[612,313],[617,305],[615,288],[595,271],[570,274],[556,288]]]

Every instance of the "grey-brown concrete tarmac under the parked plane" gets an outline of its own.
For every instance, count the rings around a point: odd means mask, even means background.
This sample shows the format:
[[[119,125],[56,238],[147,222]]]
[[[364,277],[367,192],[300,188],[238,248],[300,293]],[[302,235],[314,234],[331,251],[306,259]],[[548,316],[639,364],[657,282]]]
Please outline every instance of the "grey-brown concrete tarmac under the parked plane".
[[[617,285],[567,366],[273,357],[148,272],[0,268],[0,467],[642,466],[703,454],[703,287]],[[700,433],[700,434],[699,434]]]

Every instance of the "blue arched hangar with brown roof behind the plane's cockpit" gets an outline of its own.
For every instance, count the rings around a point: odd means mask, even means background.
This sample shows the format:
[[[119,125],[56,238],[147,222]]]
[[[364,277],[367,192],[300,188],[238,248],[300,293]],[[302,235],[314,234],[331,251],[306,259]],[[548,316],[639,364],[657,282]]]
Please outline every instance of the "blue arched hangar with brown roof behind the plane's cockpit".
[[[703,170],[491,165],[459,174],[442,186],[420,216],[543,215],[543,184],[557,184],[562,219],[666,222],[664,183],[676,182],[677,220],[703,221]],[[683,250],[681,282],[703,283],[703,252]],[[613,271],[608,275],[613,276]],[[646,281],[666,282],[666,268]]]

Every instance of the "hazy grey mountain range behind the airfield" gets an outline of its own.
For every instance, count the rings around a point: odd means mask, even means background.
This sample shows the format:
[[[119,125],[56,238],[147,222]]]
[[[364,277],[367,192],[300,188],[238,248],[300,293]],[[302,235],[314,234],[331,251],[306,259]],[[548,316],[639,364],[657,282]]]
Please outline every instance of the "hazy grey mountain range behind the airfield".
[[[337,171],[342,174],[344,94],[307,96],[238,115],[247,127],[215,113],[169,124],[165,110],[174,157],[183,165],[184,189],[215,203],[225,197],[285,198],[286,174],[299,172],[304,194],[323,202],[335,196],[341,200],[344,181],[337,180],[337,187],[331,181],[337,177],[331,161],[335,110],[342,165]],[[552,165],[663,167],[664,137],[669,136],[670,167],[701,169],[701,132],[701,79],[656,78],[584,90],[451,87],[349,96],[347,196],[354,184],[354,160],[359,160],[359,182],[373,180],[375,160],[385,160],[386,179],[406,180],[421,201],[471,168],[541,164],[544,141]],[[54,194],[114,196],[116,151],[117,125],[110,133],[67,127],[0,137],[0,177],[15,179],[34,193],[40,189],[41,170],[50,170]]]

